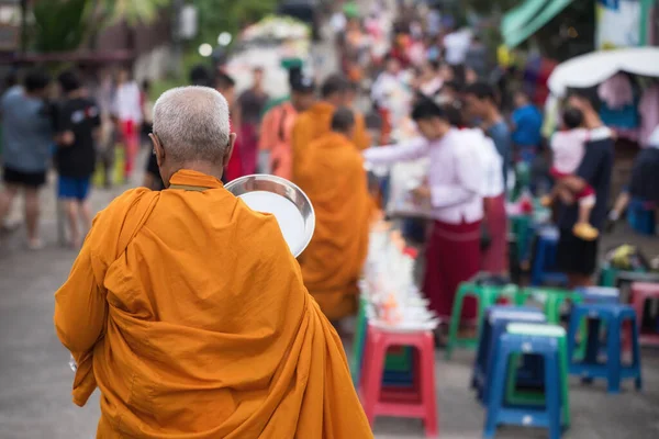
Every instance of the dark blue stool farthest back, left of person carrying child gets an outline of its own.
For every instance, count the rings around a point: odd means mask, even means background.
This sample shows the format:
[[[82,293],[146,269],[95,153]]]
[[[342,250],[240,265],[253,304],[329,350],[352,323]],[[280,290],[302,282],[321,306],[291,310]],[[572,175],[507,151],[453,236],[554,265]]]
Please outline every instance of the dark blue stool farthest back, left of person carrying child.
[[[535,259],[530,269],[530,284],[541,286],[552,284],[566,286],[568,277],[556,271],[556,249],[559,232],[556,227],[543,227],[538,230]]]

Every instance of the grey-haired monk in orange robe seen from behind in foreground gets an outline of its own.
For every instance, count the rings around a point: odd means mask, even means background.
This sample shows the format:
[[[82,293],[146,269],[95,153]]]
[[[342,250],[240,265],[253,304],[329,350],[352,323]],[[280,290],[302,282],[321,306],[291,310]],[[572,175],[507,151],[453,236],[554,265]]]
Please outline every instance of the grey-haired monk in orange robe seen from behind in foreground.
[[[102,211],[55,295],[55,327],[98,386],[98,438],[371,438],[340,340],[277,221],[220,181],[235,134],[210,88],[154,109],[167,189]]]

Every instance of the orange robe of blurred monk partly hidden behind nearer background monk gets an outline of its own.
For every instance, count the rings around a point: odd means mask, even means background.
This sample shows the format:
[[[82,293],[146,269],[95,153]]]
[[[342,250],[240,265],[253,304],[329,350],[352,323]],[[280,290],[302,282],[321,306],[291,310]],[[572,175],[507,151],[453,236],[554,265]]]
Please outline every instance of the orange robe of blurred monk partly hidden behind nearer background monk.
[[[297,182],[306,162],[309,145],[332,130],[334,105],[328,102],[316,102],[298,116],[293,126],[293,181]],[[354,145],[364,150],[371,146],[371,138],[366,130],[366,120],[360,113],[355,113]]]

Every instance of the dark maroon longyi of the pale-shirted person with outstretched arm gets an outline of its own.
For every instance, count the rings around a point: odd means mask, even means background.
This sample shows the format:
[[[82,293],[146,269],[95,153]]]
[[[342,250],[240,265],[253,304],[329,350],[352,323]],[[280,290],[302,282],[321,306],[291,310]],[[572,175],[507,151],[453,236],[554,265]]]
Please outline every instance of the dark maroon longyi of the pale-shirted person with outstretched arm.
[[[480,269],[480,221],[461,224],[433,222],[425,258],[423,291],[431,301],[431,308],[442,319],[448,319],[458,285]],[[474,317],[476,301],[467,297],[462,318]]]

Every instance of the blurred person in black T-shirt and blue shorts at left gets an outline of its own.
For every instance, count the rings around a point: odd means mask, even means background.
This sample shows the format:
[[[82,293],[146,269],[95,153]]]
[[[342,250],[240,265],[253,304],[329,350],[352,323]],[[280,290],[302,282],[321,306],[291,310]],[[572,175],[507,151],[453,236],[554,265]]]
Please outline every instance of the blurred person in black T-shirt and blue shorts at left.
[[[59,75],[58,81],[64,100],[56,123],[57,198],[65,204],[69,244],[78,248],[82,236],[91,228],[89,193],[101,115],[96,101],[86,95],[76,74],[65,71]]]

